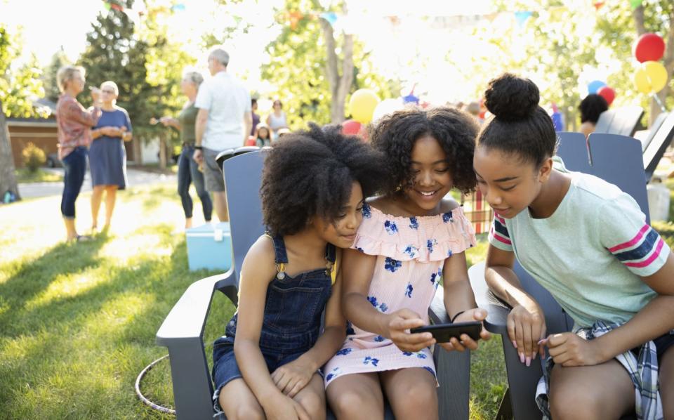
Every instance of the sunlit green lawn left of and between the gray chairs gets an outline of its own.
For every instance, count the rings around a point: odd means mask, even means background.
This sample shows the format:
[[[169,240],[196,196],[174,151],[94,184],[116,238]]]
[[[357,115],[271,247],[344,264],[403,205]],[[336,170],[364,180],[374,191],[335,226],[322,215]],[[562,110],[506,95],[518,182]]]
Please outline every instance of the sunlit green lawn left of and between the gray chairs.
[[[119,195],[113,228],[93,242],[65,244],[60,197],[0,206],[0,418],[169,418],[136,398],[138,372],[166,353],[154,334],[191,282],[174,185]],[[90,195],[77,202],[81,230]],[[198,200],[195,217],[200,214]],[[195,222],[197,222],[195,220]],[[482,259],[486,246],[470,251]],[[206,343],[234,308],[218,294]],[[206,348],[211,355],[211,348]],[[492,419],[504,390],[498,336],[473,354],[473,419]],[[172,405],[168,362],[150,371],[143,391]]]

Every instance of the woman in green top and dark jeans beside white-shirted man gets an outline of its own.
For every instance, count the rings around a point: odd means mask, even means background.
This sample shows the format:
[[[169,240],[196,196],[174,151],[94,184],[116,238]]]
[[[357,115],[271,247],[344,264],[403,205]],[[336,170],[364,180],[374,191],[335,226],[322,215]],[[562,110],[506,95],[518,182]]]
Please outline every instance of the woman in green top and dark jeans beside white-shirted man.
[[[192,197],[190,197],[190,184],[194,183],[197,189],[197,195],[201,199],[201,209],[204,211],[204,220],[206,223],[211,221],[213,214],[213,202],[211,195],[204,188],[204,175],[199,170],[199,165],[192,159],[194,155],[194,121],[197,119],[199,110],[194,106],[194,100],[197,98],[199,85],[204,81],[204,77],[199,72],[186,72],[180,88],[183,94],[187,96],[187,102],[183,110],[178,114],[178,118],[161,117],[159,122],[167,127],[173,127],[180,131],[180,140],[183,142],[183,150],[178,158],[178,195],[183,202],[185,211],[185,229],[192,228]]]

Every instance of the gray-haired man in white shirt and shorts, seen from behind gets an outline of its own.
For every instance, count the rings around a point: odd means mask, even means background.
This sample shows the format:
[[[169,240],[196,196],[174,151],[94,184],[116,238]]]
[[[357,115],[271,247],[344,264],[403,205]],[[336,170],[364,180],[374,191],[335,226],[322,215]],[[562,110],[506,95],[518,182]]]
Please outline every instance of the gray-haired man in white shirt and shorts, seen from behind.
[[[199,108],[194,127],[194,160],[204,168],[206,190],[213,192],[213,206],[221,222],[228,221],[223,173],[216,156],[223,150],[245,145],[251,132],[251,97],[241,82],[227,74],[230,55],[222,48],[209,54],[211,79],[199,86],[194,105]]]

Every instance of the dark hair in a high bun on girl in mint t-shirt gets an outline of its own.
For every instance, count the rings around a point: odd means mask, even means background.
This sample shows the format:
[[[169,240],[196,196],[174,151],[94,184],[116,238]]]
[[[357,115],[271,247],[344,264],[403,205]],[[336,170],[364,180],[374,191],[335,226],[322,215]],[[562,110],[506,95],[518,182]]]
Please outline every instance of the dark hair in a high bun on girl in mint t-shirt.
[[[478,147],[517,155],[522,162],[541,166],[557,150],[557,133],[546,110],[538,106],[538,86],[529,79],[505,73],[489,81],[484,105],[494,114],[482,127]]]

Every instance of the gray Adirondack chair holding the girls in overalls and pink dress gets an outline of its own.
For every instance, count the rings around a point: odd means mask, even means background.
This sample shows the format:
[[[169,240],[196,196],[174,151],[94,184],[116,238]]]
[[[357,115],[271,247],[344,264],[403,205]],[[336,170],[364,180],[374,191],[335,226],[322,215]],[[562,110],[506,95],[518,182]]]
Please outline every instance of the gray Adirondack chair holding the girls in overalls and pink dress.
[[[223,275],[191,284],[157,332],[157,344],[168,347],[171,356],[173,397],[178,419],[213,418],[213,382],[204,352],[204,325],[215,291],[222,291],[234,304],[237,303],[239,270],[244,256],[264,232],[259,195],[264,155],[264,149],[239,147],[218,157],[225,173],[234,266]],[[449,322],[442,290],[438,287],[429,309],[433,323]],[[224,326],[227,320],[222,321]],[[440,382],[437,388],[440,418],[468,419],[470,352],[448,353],[436,346],[433,359]],[[386,409],[386,419],[393,419],[388,405]],[[329,412],[328,419],[333,418]]]

